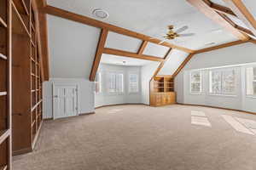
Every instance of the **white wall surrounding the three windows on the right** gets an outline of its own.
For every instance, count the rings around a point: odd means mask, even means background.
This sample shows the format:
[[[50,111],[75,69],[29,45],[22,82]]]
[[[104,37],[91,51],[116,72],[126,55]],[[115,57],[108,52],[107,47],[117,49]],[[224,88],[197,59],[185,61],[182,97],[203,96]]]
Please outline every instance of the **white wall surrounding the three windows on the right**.
[[[177,92],[177,102],[192,105],[211,105],[241,111],[256,112],[256,99],[247,98],[245,95],[245,68],[246,66],[236,66],[236,87],[238,89],[236,97],[211,96],[208,95],[209,73],[203,71],[205,79],[203,85],[204,95],[193,95],[189,93],[189,71],[211,68],[224,65],[240,65],[256,62],[256,46],[253,43],[245,43],[230,48],[222,48],[211,52],[196,54],[189,63],[185,65],[175,79]]]

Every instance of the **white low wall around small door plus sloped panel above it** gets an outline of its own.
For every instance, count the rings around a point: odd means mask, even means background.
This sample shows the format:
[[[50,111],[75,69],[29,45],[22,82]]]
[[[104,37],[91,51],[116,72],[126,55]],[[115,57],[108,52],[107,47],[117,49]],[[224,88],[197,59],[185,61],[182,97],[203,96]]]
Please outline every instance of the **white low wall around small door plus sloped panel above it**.
[[[101,30],[92,26],[48,15],[49,82],[44,82],[44,118],[52,117],[52,82],[78,83],[79,113],[94,111],[90,69]]]

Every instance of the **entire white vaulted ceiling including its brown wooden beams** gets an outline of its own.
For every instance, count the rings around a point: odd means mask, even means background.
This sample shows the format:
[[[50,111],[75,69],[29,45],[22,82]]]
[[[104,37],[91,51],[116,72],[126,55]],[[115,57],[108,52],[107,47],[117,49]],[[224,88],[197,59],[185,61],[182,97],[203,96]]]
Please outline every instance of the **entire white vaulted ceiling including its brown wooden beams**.
[[[234,2],[246,6],[249,20]],[[63,77],[93,80],[91,76],[95,75],[100,60],[117,65],[124,60],[129,65],[161,62],[156,75],[176,75],[194,54],[244,43],[250,41],[253,33],[256,35],[253,28],[256,4],[251,0],[48,0],[47,3],[40,10],[49,14],[50,77],[62,77],[65,73]],[[108,11],[108,19],[96,18],[92,14],[94,8]],[[195,36],[157,44],[168,25],[189,26],[183,33],[192,32]],[[43,45],[47,47],[47,43]]]

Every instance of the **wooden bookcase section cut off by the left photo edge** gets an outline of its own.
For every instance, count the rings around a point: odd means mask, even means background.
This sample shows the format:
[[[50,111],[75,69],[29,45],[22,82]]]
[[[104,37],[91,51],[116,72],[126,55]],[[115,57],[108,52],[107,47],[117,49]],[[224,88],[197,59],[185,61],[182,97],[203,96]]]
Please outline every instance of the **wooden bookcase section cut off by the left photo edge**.
[[[11,169],[10,2],[0,0],[0,169]]]

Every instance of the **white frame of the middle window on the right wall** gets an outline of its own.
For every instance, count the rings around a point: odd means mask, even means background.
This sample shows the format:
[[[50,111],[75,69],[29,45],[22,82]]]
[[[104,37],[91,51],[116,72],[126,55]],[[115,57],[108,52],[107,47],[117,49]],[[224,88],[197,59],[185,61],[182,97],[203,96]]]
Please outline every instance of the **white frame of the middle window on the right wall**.
[[[212,72],[213,71],[219,71],[220,72],[220,93],[218,94],[213,94],[212,93]],[[224,93],[224,71],[234,71],[235,75],[234,75],[234,93]],[[209,70],[209,95],[213,95],[213,96],[226,96],[226,97],[236,97],[237,94],[237,70],[236,67],[230,67],[230,68],[220,68],[220,69],[212,69]]]

